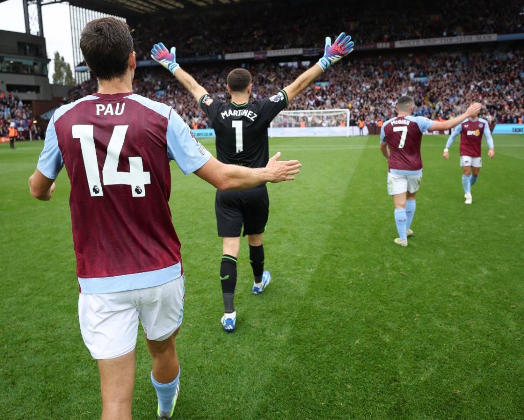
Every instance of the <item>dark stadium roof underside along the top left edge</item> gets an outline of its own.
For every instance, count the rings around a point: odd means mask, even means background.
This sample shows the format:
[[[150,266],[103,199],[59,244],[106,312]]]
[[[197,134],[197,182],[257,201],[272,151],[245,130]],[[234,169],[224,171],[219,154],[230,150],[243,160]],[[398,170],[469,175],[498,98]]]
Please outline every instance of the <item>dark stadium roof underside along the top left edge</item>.
[[[0,3],[6,0],[0,0]],[[37,0],[29,0],[36,3]],[[84,9],[108,15],[136,18],[144,15],[162,15],[169,12],[199,13],[216,10],[224,6],[260,3],[266,0],[40,0],[45,6],[54,3],[69,3]]]

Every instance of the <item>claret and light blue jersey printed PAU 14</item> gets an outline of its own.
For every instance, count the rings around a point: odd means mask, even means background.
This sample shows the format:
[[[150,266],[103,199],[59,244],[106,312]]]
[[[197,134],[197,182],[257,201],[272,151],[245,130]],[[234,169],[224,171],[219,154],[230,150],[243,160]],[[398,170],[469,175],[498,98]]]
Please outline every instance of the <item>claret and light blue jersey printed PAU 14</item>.
[[[89,95],[54,113],[37,168],[50,179],[67,169],[82,293],[152,287],[183,274],[169,161],[189,174],[210,157],[170,106],[140,95]]]

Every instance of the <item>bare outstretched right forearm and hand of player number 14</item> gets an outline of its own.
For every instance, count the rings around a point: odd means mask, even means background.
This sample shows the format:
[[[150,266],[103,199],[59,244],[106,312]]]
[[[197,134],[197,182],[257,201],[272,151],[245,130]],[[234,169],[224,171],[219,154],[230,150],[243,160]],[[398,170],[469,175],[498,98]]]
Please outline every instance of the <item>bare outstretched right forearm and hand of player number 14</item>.
[[[295,179],[293,175],[300,172],[302,165],[298,160],[278,160],[279,157],[280,152],[269,159],[265,168],[226,165],[211,157],[194,174],[220,190],[250,188],[265,182],[292,181]]]

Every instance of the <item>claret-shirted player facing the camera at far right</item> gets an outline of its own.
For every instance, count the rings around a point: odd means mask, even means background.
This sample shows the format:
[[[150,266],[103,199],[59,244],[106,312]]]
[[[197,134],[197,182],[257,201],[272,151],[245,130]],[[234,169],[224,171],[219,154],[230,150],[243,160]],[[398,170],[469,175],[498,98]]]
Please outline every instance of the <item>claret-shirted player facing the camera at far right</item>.
[[[460,166],[462,167],[462,186],[464,187],[464,201],[465,204],[471,204],[473,197],[471,195],[471,187],[477,181],[478,174],[482,167],[481,157],[481,143],[482,135],[486,137],[488,144],[488,157],[493,159],[495,156],[495,146],[493,145],[493,137],[489,130],[489,125],[486,120],[476,115],[471,116],[462,124],[459,124],[451,133],[450,138],[447,139],[444,148],[443,156],[445,159],[450,157],[450,147],[453,140],[460,133]]]

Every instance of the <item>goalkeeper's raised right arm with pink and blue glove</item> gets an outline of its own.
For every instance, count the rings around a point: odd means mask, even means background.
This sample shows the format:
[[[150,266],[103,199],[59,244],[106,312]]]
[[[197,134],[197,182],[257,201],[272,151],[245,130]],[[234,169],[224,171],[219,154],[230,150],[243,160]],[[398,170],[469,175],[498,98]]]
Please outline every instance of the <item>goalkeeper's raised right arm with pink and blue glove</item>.
[[[293,83],[284,88],[288,95],[288,100],[291,101],[296,98],[296,96],[305,88],[318,79],[319,76],[331,66],[331,64],[336,63],[342,57],[347,56],[351,51],[353,51],[354,45],[355,43],[351,41],[351,37],[349,35],[346,36],[345,33],[341,33],[339,37],[336,38],[335,42],[333,42],[333,45],[331,45],[331,38],[326,37],[324,55],[322,58],[314,64],[313,67],[300,74]]]

